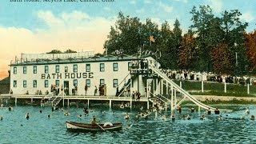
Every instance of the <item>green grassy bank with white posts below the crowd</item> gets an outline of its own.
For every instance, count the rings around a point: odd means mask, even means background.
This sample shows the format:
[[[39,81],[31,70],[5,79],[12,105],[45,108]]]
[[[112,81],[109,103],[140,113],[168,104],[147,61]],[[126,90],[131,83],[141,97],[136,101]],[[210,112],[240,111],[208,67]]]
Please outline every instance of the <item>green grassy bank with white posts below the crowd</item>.
[[[178,81],[182,82],[182,88],[194,95],[218,95],[218,96],[237,96],[237,97],[256,97],[256,86],[250,86],[250,94],[247,94],[247,86],[238,84],[226,84],[226,93],[224,93],[224,83],[203,82],[204,92],[202,92],[202,82],[198,81]]]

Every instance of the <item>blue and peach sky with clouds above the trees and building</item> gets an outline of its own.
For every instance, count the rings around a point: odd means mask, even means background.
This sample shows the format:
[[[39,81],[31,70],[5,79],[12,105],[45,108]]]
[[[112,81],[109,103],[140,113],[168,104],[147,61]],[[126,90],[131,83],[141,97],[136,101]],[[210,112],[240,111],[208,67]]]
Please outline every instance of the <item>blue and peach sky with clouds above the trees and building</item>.
[[[18,2],[17,2],[18,1]],[[33,2],[39,1],[39,2]],[[8,76],[10,62],[21,54],[42,54],[50,50],[94,50],[102,53],[110,26],[118,13],[181,23],[183,34],[192,24],[193,6],[209,5],[216,16],[224,10],[239,10],[241,21],[256,25],[255,0],[1,0],[0,2],[0,79]]]

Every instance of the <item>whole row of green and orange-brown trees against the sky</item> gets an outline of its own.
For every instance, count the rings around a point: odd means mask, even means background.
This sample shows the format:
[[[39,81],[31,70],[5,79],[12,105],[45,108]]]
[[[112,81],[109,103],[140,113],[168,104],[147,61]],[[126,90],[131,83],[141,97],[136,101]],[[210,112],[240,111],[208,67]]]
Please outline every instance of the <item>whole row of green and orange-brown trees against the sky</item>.
[[[194,6],[190,14],[193,24],[182,36],[178,19],[173,30],[168,22],[163,22],[159,29],[150,18],[143,23],[137,17],[119,12],[104,43],[104,54],[138,55],[139,50],[161,51],[162,57],[154,58],[164,69],[213,71],[218,74],[242,74],[246,71],[248,52],[244,33],[248,23],[240,21],[242,14],[238,10],[225,10],[220,16],[215,16],[210,6]],[[150,41],[150,36],[154,37],[154,42]]]

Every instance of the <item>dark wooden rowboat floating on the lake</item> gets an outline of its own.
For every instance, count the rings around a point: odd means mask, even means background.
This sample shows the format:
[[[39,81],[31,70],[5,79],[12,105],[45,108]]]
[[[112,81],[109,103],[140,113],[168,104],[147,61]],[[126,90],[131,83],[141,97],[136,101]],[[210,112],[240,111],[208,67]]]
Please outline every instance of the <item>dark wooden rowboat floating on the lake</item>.
[[[66,121],[66,129],[73,131],[105,131],[105,130],[121,130],[122,123],[96,123],[92,126],[89,123],[81,123],[81,122],[69,122]]]

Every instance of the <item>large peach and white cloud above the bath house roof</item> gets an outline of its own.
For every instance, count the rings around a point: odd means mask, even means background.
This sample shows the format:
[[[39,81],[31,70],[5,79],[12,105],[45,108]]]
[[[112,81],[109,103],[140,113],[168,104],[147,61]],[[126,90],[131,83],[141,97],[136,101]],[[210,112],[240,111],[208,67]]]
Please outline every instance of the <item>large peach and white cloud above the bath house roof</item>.
[[[0,66],[8,70],[10,60],[21,53],[46,53],[50,50],[94,50],[103,52],[103,43],[114,25],[116,18],[90,17],[74,10],[70,13],[53,14],[39,10],[38,19],[45,25],[29,30],[23,27],[0,26]],[[3,69],[3,68],[1,68]]]

